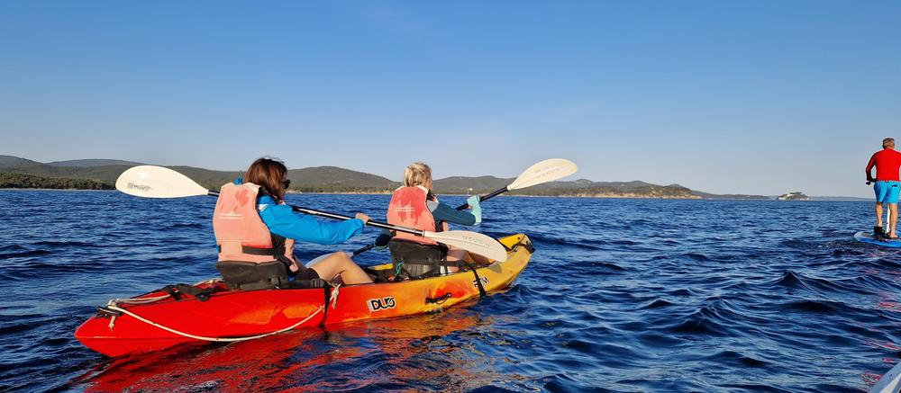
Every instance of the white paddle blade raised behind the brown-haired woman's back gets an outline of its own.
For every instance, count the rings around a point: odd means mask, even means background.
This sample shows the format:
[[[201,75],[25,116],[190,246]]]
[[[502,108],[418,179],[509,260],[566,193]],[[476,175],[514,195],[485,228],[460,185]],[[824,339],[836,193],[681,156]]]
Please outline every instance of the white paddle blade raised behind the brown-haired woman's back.
[[[139,165],[128,168],[115,181],[115,189],[143,198],[181,198],[206,195],[200,184],[169,168]]]

